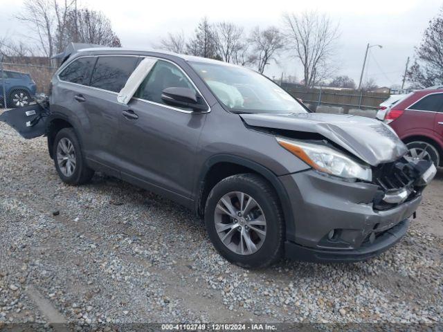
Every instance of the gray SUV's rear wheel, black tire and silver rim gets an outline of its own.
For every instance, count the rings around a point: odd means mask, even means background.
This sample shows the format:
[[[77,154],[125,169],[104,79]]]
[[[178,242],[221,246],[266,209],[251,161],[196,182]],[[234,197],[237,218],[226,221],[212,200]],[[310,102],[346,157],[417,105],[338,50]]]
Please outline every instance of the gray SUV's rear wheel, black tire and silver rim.
[[[84,163],[74,129],[64,128],[57,133],[53,144],[53,156],[55,169],[64,183],[83,185],[91,181],[94,171]]]

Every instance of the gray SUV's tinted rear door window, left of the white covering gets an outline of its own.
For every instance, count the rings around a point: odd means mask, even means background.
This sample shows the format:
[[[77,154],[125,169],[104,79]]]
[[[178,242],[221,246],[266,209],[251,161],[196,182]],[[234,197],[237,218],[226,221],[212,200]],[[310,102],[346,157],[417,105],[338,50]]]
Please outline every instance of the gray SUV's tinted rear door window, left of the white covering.
[[[138,63],[138,57],[98,57],[91,86],[120,92]]]

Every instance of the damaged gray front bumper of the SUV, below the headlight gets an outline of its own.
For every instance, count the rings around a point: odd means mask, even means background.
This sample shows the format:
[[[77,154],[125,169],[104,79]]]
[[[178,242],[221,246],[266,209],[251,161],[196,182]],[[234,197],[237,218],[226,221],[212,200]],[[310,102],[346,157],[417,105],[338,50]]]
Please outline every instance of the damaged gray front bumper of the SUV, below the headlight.
[[[424,163],[412,167],[420,169]],[[387,250],[406,234],[410,217],[422,201],[422,190],[436,169],[426,164],[426,169],[417,172],[406,185],[406,195],[399,190],[393,194],[376,183],[345,182],[314,170],[280,176],[295,221],[295,234],[288,234],[285,243],[287,257],[360,261]]]

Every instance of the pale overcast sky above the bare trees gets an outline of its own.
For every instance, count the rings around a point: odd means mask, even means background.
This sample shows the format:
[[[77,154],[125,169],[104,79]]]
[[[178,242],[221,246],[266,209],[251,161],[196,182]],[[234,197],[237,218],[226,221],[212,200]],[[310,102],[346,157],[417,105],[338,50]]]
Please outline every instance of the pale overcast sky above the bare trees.
[[[429,19],[437,15],[443,1],[437,0],[310,0],[310,1],[207,1],[207,0],[80,0],[82,6],[101,10],[111,19],[123,46],[155,45],[168,32],[183,30],[191,35],[201,17],[212,22],[232,21],[250,30],[253,26],[281,26],[282,13],[318,10],[326,12],[340,25],[336,63],[338,73],[349,75],[358,84],[366,44],[372,48],[365,78],[379,85],[400,84],[406,58],[413,56]],[[30,33],[16,19],[21,1],[0,0],[0,36]],[[278,64],[266,68],[265,74],[280,77],[296,75],[302,79],[295,59],[282,55]]]

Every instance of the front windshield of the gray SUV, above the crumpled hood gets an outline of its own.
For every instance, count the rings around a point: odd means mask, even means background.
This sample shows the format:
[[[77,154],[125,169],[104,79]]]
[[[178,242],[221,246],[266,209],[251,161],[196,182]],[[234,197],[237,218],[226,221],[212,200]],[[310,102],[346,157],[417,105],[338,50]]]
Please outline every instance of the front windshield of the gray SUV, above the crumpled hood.
[[[307,113],[289,93],[247,68],[190,62],[209,89],[230,111],[238,113]]]

